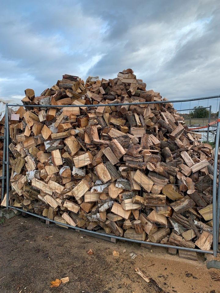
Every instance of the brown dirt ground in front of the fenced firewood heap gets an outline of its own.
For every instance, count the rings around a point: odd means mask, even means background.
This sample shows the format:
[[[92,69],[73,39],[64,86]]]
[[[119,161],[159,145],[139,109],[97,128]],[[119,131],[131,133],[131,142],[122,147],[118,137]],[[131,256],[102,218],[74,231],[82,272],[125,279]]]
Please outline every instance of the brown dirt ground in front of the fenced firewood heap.
[[[168,255],[163,248],[112,244],[21,215],[5,220],[0,229],[1,293],[156,292],[135,273],[137,267],[164,292],[220,292],[220,282],[211,279],[204,255],[189,261]],[[87,254],[90,249],[93,255]],[[119,257],[112,255],[114,250]],[[130,257],[132,251],[138,254],[135,259]],[[50,281],[67,276],[68,283],[50,288]]]

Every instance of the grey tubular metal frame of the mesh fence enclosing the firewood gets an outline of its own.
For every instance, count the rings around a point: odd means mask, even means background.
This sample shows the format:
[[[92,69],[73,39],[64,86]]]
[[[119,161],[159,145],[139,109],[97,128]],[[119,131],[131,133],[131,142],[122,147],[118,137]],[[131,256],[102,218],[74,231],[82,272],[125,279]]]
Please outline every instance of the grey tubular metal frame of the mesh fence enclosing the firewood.
[[[205,100],[205,99],[213,99],[213,98],[220,98],[220,95],[218,96],[210,96],[210,97],[204,97],[204,98],[196,98],[196,99],[186,99],[185,101],[195,101],[195,100]],[[124,106],[124,105],[147,105],[147,104],[161,104],[161,103],[179,103],[179,100],[174,100],[174,101],[153,101],[153,102],[142,102],[142,103],[112,103],[112,104],[107,104],[108,106]],[[6,174],[6,205],[7,208],[12,208],[18,211],[22,211],[25,212],[29,215],[33,215],[35,217],[38,217],[40,219],[45,219],[45,220],[49,220],[46,217],[43,217],[41,215],[38,214],[34,214],[32,212],[28,212],[28,211],[24,211],[20,208],[17,207],[13,207],[13,206],[9,206],[9,115],[8,115],[8,109],[9,107],[27,107],[27,108],[37,108],[37,107],[42,107],[42,108],[64,108],[64,107],[105,107],[106,104],[99,104],[99,105],[15,105],[15,104],[6,104],[6,109],[5,109],[5,128],[6,128],[6,164],[7,164],[7,174]],[[210,108],[210,114],[211,114],[211,106],[208,107]],[[219,116],[220,116],[220,107],[219,107]],[[188,251],[196,251],[196,252],[201,252],[201,253],[209,253],[209,254],[213,254],[214,256],[217,255],[217,247],[218,247],[218,230],[219,230],[219,218],[220,218],[220,196],[218,196],[218,204],[217,204],[217,169],[218,169],[218,149],[219,149],[219,137],[220,137],[220,119],[218,117],[218,126],[217,126],[217,139],[216,139],[216,147],[215,147],[215,159],[214,159],[214,176],[213,176],[213,250],[211,251],[204,251],[204,250],[200,250],[200,249],[195,249],[195,248],[186,248],[186,247],[179,247],[179,246],[173,246],[173,245],[168,245],[168,244],[161,244],[161,243],[152,243],[152,242],[146,242],[146,241],[140,241],[140,240],[133,240],[133,239],[128,239],[128,238],[124,238],[124,237],[118,237],[112,234],[104,234],[104,233],[100,233],[97,231],[92,231],[92,230],[86,230],[86,229],[82,229],[79,227],[74,227],[74,226],[70,226],[67,224],[62,223],[63,226],[67,226],[70,227],[72,229],[75,230],[79,230],[79,231],[86,231],[86,233],[90,233],[91,235],[93,234],[98,234],[98,235],[102,235],[105,237],[109,237],[109,238],[116,238],[116,239],[121,239],[123,241],[129,241],[129,242],[136,242],[136,243],[143,243],[143,244],[149,244],[149,245],[154,245],[154,246],[160,246],[160,247],[165,247],[165,248],[177,248],[177,249],[181,249],[181,250],[188,250]],[[220,188],[218,188],[218,194],[220,193]],[[218,208],[217,208],[218,207]],[[218,213],[217,213],[218,211]],[[50,222],[56,223],[56,224],[60,224],[60,222],[54,221],[54,220],[49,220]]]

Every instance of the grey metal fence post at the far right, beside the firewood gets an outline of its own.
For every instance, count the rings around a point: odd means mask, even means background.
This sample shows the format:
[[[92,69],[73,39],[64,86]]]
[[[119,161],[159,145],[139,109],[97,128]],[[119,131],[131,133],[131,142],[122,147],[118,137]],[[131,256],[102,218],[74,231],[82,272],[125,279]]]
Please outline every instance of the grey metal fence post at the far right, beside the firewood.
[[[217,248],[218,248],[218,239],[217,239],[217,226],[219,226],[219,223],[217,225],[217,172],[218,172],[218,147],[219,147],[219,137],[220,137],[220,105],[219,105],[219,111],[218,111],[218,122],[217,122],[217,132],[216,132],[216,142],[215,142],[215,158],[214,158],[214,174],[213,174],[213,202],[212,202],[212,218],[213,218],[213,254],[216,257],[217,256]],[[218,197],[218,202],[220,201],[220,198]],[[220,202],[219,202],[220,204]]]

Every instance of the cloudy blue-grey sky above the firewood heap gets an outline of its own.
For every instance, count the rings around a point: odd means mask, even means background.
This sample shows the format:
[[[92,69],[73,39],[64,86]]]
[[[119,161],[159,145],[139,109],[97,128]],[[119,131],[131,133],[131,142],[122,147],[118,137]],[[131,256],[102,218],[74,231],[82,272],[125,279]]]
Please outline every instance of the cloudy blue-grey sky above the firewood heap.
[[[26,88],[39,96],[63,74],[108,79],[127,68],[170,100],[219,95],[219,19],[215,0],[3,0],[0,100]],[[174,106],[209,105],[219,101]]]

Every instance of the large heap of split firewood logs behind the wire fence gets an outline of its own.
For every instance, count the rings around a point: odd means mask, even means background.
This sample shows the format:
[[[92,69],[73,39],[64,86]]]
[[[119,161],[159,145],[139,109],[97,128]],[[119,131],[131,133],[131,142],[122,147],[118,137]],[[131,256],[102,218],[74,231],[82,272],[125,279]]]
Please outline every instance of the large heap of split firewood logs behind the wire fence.
[[[127,69],[86,82],[64,74],[25,95],[33,107],[9,109],[11,206],[61,226],[211,249],[214,153],[159,92]],[[167,103],[117,106],[146,101]]]

